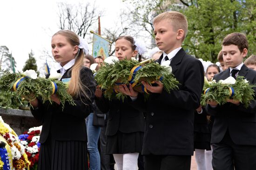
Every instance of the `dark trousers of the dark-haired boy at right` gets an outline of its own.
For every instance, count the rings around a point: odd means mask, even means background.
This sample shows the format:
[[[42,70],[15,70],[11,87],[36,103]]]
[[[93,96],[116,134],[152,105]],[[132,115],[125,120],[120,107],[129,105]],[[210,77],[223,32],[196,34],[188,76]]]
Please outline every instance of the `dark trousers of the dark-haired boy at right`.
[[[218,144],[212,144],[214,170],[256,170],[256,146],[236,145],[227,130]]]

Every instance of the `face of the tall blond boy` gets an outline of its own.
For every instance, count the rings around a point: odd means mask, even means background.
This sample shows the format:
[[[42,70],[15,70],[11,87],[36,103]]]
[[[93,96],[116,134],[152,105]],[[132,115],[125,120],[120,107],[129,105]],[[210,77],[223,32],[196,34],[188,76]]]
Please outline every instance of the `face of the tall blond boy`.
[[[167,19],[154,24],[154,34],[157,47],[167,54],[181,46],[178,31],[173,30]]]

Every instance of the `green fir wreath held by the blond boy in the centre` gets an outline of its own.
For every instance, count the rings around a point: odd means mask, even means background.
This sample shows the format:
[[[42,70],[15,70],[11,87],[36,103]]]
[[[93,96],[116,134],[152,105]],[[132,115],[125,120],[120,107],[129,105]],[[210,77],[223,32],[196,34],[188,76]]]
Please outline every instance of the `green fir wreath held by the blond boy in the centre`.
[[[115,86],[134,82],[134,89],[138,92],[145,92],[142,89],[141,81],[153,84],[155,81],[160,80],[164,89],[170,93],[172,89],[177,89],[179,82],[175,79],[174,75],[169,71],[167,67],[161,66],[158,63],[152,62],[145,65],[143,62],[136,60],[121,60],[114,61],[113,64],[105,63],[100,70],[97,71],[94,77],[97,84],[104,90],[106,98],[111,100],[116,97],[119,100],[124,100],[127,96],[122,93],[118,93],[114,90]],[[140,67],[141,66],[141,67]],[[136,73],[132,73],[132,69],[138,68]],[[133,77],[131,79],[131,77]],[[146,90],[146,89],[144,89]],[[144,93],[148,97],[148,93]]]

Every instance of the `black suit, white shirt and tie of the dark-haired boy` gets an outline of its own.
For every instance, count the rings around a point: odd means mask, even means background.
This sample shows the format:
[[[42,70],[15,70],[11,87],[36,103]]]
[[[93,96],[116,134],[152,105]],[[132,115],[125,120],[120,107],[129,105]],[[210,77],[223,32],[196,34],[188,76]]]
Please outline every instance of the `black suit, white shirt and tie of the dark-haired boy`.
[[[243,63],[214,76],[224,80],[231,76],[231,69],[238,69],[236,76],[244,76],[250,83],[256,83],[256,71]],[[256,88],[254,88],[256,90]],[[256,101],[248,108],[226,103],[222,106],[207,105],[206,111],[215,116],[211,143],[213,144],[213,168],[215,170],[256,170]]]

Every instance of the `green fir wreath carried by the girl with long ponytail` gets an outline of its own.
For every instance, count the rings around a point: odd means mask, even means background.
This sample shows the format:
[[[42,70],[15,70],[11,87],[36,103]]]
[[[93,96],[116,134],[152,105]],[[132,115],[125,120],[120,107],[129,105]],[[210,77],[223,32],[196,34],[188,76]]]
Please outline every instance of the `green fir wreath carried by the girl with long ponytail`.
[[[32,79],[30,77],[24,78],[20,81],[16,90],[13,85],[20,78],[24,77],[21,73],[10,73],[9,71],[0,71],[0,91],[1,93],[9,93],[10,91],[21,97],[26,97],[27,100],[34,100],[40,97],[43,101],[50,101],[53,103],[51,96],[53,94],[53,82],[57,86],[56,94],[59,96],[61,106],[64,108],[65,102],[75,105],[74,100],[70,94],[67,93],[67,85],[57,79],[46,79],[38,77]]]

